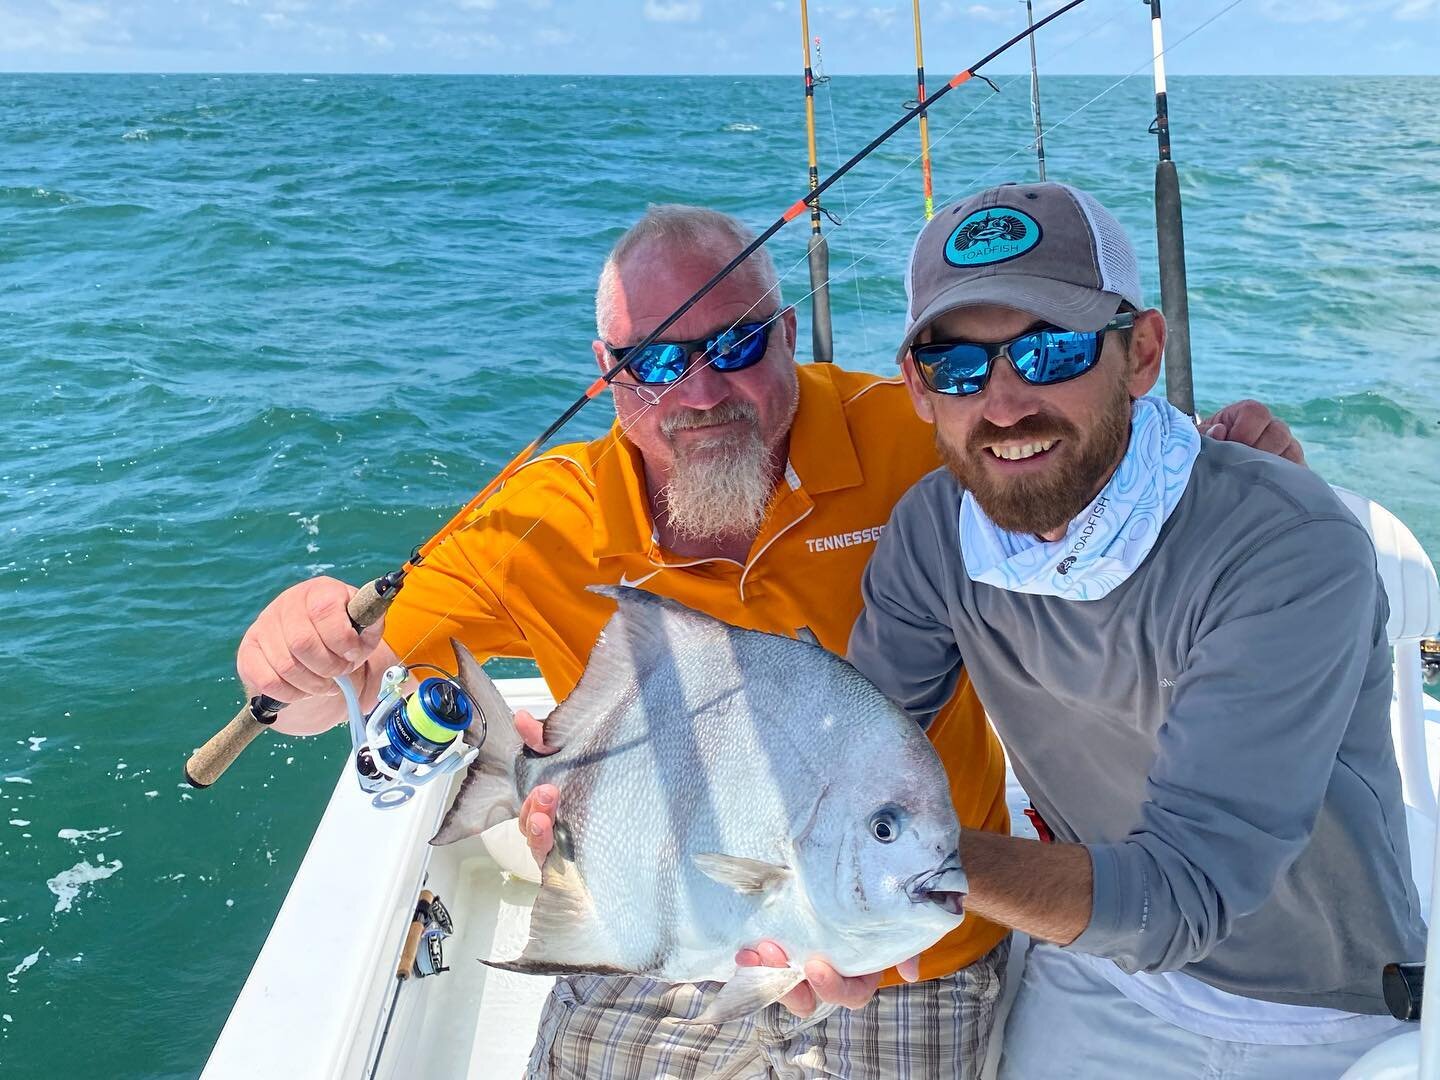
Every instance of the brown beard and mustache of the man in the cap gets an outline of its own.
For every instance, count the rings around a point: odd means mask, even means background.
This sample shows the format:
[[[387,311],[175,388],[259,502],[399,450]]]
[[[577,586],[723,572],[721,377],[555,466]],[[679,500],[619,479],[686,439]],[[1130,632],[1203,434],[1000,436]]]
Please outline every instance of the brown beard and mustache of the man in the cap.
[[[1129,436],[1130,395],[1117,380],[1116,393],[1084,436],[1068,420],[1035,413],[1012,428],[981,420],[965,451],[946,442],[936,426],[935,445],[991,521],[1009,533],[1044,534],[1064,528],[1090,504],[1119,464]],[[1070,448],[1070,461],[1040,475],[998,480],[981,456],[989,455],[985,448],[995,442],[1050,439]]]

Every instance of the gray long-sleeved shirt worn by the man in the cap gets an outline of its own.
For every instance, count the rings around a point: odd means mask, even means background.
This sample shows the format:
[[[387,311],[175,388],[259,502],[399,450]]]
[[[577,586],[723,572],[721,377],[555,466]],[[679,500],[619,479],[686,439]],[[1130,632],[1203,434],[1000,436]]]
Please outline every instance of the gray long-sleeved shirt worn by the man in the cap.
[[[1420,959],[1424,927],[1384,589],[1329,487],[1205,439],[1149,559],[1084,602],[972,582],[959,508],[943,469],[896,507],[851,661],[926,723],[965,658],[1035,808],[1090,851],[1070,948],[1384,1012],[1381,969]]]

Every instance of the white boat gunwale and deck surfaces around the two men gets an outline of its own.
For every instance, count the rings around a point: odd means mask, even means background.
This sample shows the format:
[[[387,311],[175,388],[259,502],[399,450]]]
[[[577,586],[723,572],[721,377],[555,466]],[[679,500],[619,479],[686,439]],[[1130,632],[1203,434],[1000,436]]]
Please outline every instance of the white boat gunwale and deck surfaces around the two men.
[[[511,706],[546,714],[540,680],[507,680]],[[1426,701],[1431,782],[1440,763],[1440,703]],[[256,1076],[446,1077],[495,1080],[524,1074],[552,979],[487,968],[516,955],[528,930],[536,886],[507,873],[481,837],[431,848],[451,802],[445,785],[422,788],[405,808],[377,812],[348,762],[295,884],[204,1070],[206,1080]],[[1028,799],[1008,779],[1012,831],[1034,835]],[[1434,827],[1410,812],[1411,858],[1428,907]],[[518,829],[501,861],[526,873]],[[359,857],[357,857],[359,855]],[[376,880],[370,867],[396,867]],[[533,873],[530,863],[528,873]],[[448,971],[408,979],[395,966],[415,897],[425,887],[449,907]],[[346,906],[344,916],[336,904]],[[1378,973],[1377,973],[1378,975]],[[392,1012],[393,1001],[393,1012]],[[386,1020],[389,1030],[386,1031]],[[383,1041],[383,1047],[382,1047]],[[379,1060],[377,1060],[379,1057]]]

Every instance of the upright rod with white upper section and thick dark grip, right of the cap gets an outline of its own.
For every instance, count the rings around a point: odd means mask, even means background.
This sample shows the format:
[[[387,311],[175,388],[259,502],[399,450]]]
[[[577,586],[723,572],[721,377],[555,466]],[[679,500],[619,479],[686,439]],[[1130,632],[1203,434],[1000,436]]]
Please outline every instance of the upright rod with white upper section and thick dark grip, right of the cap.
[[[1155,52],[1155,238],[1161,261],[1161,310],[1165,312],[1165,396],[1188,416],[1195,415],[1195,380],[1189,366],[1189,295],[1185,288],[1185,223],[1179,210],[1179,173],[1171,158],[1169,101],[1165,92],[1165,36],[1161,0],[1142,0],[1151,9]]]

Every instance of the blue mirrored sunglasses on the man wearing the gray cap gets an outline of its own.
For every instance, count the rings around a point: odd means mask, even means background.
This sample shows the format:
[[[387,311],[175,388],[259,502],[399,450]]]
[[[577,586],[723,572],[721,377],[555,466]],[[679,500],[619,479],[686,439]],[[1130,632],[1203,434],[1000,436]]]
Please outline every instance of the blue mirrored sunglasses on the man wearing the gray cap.
[[[1094,367],[1106,331],[1129,330],[1135,314],[1125,311],[1100,330],[1027,330],[1009,341],[935,341],[914,346],[914,367],[935,393],[969,397],[985,389],[995,359],[1009,359],[1015,373],[1031,386],[1054,386],[1079,379]]]

